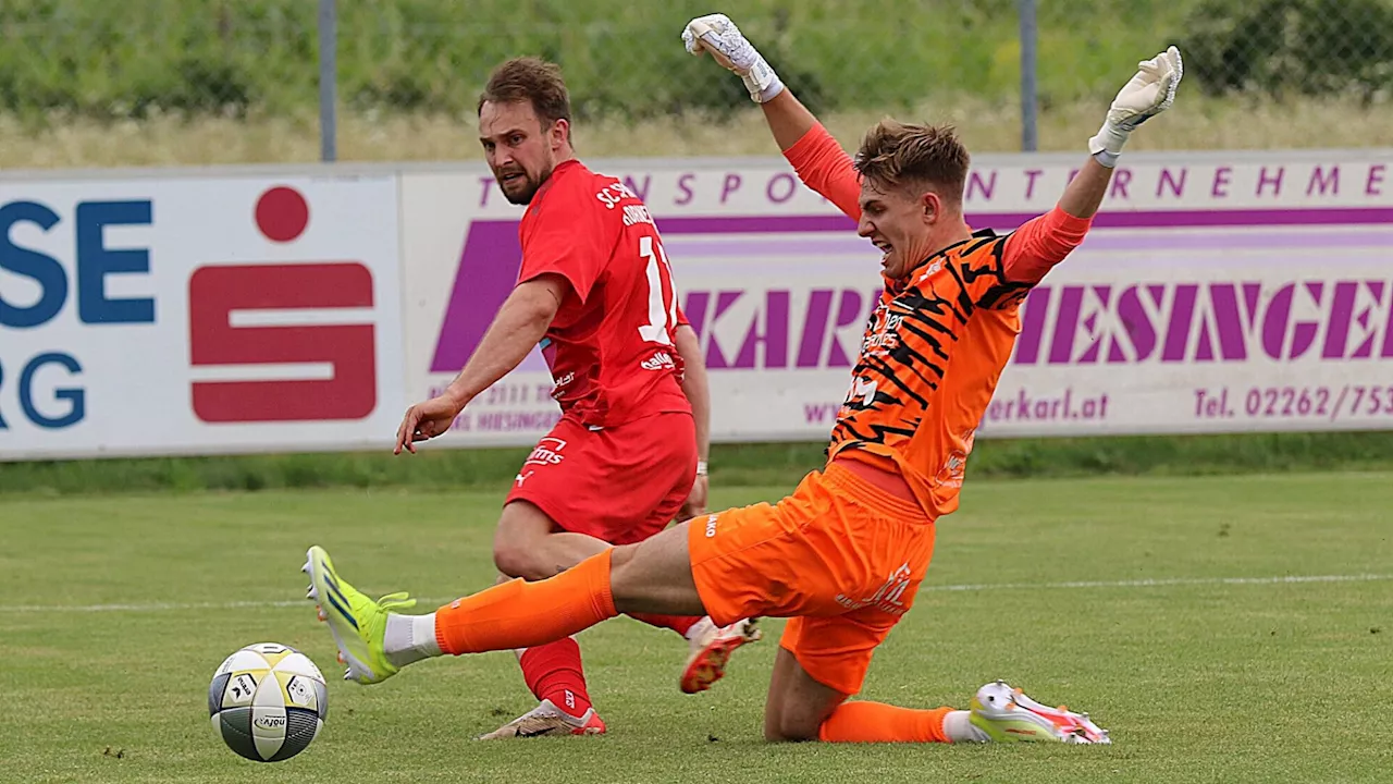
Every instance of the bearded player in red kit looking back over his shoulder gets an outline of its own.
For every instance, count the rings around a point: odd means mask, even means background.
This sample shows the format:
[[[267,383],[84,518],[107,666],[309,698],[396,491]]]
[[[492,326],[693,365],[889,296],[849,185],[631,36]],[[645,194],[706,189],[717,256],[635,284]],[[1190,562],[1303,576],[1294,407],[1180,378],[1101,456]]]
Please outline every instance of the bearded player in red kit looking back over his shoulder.
[[[571,146],[560,70],[524,57],[499,66],[479,98],[479,141],[513,204],[522,266],[478,350],[437,398],[412,406],[396,453],[446,432],[460,412],[534,346],[563,416],[518,470],[495,536],[507,578],[540,580],[612,545],[634,544],[705,512],[709,402],[696,333],[677,307],[671,266],[644,202]],[[684,692],[710,686],[758,631],[747,619],[634,618],[690,642]],[[483,738],[605,732],[570,636],[520,651],[536,709]]]

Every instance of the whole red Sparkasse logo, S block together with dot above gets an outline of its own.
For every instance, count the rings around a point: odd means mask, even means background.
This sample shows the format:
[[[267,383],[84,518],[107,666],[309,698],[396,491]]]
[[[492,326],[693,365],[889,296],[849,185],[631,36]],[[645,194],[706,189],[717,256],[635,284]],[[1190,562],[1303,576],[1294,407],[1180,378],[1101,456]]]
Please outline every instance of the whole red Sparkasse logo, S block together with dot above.
[[[295,188],[272,187],[256,199],[255,223],[272,243],[294,243],[309,226],[309,204]],[[361,261],[195,269],[189,363],[203,372],[192,381],[194,414],[205,423],[369,416],[378,406],[372,308],[372,271]]]

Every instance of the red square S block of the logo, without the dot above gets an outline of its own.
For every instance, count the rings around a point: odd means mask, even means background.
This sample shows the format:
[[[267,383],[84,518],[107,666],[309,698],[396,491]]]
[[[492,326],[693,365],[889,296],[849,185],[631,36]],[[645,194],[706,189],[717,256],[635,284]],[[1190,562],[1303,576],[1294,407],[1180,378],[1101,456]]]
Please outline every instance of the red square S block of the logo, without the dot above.
[[[189,361],[209,365],[329,364],[327,379],[195,381],[208,423],[357,420],[378,406],[371,324],[234,326],[233,311],[371,308],[362,264],[203,266],[188,290]]]

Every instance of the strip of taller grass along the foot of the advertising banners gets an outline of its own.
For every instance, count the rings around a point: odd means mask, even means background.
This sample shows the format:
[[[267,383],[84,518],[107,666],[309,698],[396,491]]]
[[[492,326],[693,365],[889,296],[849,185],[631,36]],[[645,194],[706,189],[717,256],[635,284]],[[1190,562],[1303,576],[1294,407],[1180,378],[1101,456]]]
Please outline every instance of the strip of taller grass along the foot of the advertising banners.
[[[712,483],[786,485],[822,465],[822,444],[717,444]],[[0,463],[0,494],[256,491],[302,487],[501,490],[527,449],[332,453]],[[983,439],[978,477],[1073,477],[1393,470],[1393,432]]]

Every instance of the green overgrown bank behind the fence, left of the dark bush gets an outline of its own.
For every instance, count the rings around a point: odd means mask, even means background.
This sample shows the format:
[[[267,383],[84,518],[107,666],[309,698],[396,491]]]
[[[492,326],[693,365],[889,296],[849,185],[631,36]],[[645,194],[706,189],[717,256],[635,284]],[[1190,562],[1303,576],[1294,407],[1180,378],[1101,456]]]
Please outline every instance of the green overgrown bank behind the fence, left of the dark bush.
[[[1197,0],[1042,3],[1046,102],[1112,96],[1183,29]],[[1067,8],[1060,8],[1067,6]],[[359,110],[472,113],[517,54],[563,64],[582,116],[748,106],[734,77],[683,52],[710,3],[340,1],[338,95]],[[733,13],[815,109],[893,110],[935,96],[1015,95],[1015,0],[747,0]],[[313,0],[11,0],[0,4],[0,112],[313,116]]]

